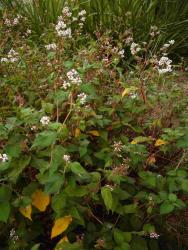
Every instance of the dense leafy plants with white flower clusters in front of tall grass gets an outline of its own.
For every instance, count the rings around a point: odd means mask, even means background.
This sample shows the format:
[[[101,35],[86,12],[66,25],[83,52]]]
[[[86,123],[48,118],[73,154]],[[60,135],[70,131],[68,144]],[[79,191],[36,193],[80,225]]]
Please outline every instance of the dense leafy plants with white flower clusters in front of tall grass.
[[[1,22],[0,249],[187,249],[176,41],[152,50],[156,26],[148,43],[129,29],[94,39],[87,12],[73,15],[64,8],[40,43],[25,16]]]

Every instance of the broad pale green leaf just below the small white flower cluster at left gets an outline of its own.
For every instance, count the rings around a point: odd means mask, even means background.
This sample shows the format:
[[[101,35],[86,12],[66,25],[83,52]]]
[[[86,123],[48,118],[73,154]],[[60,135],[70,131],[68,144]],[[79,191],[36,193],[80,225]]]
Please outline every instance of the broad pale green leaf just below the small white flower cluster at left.
[[[37,134],[37,137],[34,140],[32,148],[46,148],[56,142],[57,133],[54,131],[44,131]]]

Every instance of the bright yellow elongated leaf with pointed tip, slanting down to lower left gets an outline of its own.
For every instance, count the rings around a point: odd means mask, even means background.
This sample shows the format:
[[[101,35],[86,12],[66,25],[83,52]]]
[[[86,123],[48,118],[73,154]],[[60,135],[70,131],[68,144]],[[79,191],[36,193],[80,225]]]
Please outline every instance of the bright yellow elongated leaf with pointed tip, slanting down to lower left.
[[[71,222],[72,217],[70,215],[57,219],[52,228],[51,239],[63,233],[68,228]]]

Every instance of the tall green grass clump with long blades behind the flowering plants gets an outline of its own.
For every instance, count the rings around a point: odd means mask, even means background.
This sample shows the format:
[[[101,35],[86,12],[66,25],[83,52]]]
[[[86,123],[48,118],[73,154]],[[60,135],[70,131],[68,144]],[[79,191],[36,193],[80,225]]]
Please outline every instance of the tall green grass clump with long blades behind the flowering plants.
[[[150,27],[156,25],[161,34],[154,39],[153,50],[159,49],[170,39],[176,41],[173,53],[186,54],[188,48],[188,2],[179,0],[75,0],[68,1],[74,12],[86,9],[85,30],[94,33],[111,30],[113,36],[120,36],[131,29],[137,42],[148,41]],[[51,23],[57,21],[65,0],[0,0],[1,6],[16,8],[26,16],[31,28],[40,36]]]

